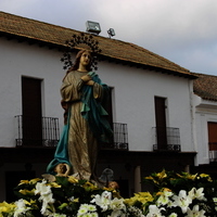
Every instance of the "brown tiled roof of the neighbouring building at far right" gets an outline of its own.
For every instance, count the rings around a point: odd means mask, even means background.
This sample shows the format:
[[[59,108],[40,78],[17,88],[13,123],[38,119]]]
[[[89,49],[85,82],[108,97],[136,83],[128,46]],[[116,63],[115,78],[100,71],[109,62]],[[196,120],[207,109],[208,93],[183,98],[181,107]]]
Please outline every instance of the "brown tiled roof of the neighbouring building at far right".
[[[204,100],[217,101],[217,76],[195,74],[193,91]]]

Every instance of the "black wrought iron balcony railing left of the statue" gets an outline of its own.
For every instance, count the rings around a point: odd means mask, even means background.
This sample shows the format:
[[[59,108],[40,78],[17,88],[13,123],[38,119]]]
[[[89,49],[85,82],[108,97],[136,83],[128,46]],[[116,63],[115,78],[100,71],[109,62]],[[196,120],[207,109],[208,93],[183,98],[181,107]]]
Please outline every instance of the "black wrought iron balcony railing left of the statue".
[[[15,116],[16,146],[55,146],[60,140],[59,118]]]

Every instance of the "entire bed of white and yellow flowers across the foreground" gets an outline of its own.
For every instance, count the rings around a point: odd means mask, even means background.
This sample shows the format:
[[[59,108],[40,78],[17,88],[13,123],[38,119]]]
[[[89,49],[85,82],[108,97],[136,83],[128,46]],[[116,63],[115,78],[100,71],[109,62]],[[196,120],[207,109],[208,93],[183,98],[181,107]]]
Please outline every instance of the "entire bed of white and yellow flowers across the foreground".
[[[161,171],[144,178],[155,188],[123,199],[75,177],[22,180],[14,203],[0,203],[0,217],[217,217],[217,183],[208,175]]]

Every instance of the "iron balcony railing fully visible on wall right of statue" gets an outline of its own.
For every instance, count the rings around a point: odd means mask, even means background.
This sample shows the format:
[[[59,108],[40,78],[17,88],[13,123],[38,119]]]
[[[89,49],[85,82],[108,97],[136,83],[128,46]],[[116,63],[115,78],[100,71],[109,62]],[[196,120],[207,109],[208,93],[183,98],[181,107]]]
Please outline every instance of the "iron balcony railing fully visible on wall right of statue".
[[[153,151],[157,152],[180,152],[179,128],[153,127]]]

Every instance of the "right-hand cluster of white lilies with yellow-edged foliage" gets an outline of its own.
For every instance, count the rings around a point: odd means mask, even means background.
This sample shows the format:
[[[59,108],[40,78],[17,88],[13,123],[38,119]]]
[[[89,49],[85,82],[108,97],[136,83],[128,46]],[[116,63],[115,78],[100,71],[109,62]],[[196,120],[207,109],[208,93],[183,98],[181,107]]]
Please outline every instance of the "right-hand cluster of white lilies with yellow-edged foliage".
[[[144,181],[155,188],[146,217],[217,217],[217,181],[206,174],[163,170]]]

